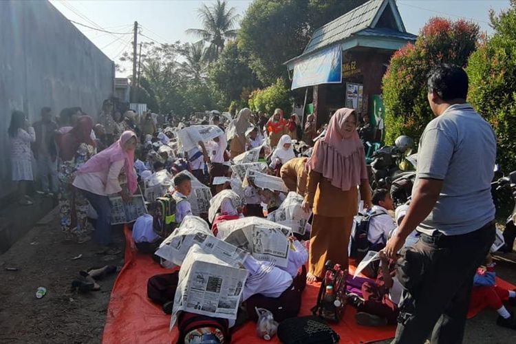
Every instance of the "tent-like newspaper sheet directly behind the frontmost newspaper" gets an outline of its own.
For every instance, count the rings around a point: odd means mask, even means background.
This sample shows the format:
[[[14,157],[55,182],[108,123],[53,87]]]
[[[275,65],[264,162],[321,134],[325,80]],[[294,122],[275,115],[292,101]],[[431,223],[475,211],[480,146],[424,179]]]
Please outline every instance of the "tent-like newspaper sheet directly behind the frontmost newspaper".
[[[247,252],[214,237],[206,221],[192,215],[184,217],[180,226],[164,239],[155,255],[177,266],[182,266],[186,253],[194,244],[230,266],[242,266],[248,256]]]

